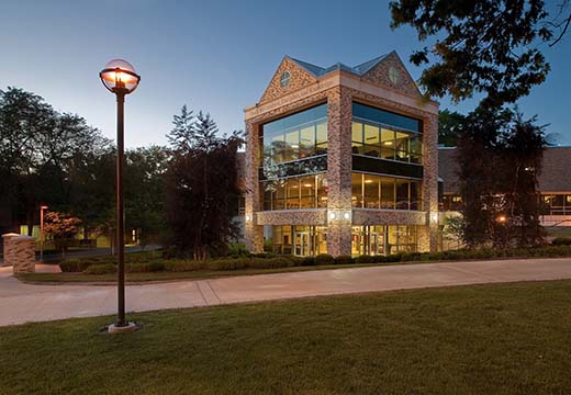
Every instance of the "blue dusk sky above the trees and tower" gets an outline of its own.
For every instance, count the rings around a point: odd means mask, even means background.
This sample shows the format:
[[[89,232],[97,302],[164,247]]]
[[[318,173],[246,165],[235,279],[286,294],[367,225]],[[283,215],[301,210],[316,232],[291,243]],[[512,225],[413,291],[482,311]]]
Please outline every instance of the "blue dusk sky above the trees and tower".
[[[184,103],[210,112],[222,132],[243,128],[243,109],[258,101],[283,55],[352,66],[395,49],[418,78],[407,61],[419,46],[414,32],[389,24],[388,1],[374,0],[1,0],[0,89],[37,93],[113,137],[114,98],[98,72],[124,58],[142,76],[127,98],[126,145],[166,144]],[[571,34],[546,56],[547,82],[519,108],[571,143]]]

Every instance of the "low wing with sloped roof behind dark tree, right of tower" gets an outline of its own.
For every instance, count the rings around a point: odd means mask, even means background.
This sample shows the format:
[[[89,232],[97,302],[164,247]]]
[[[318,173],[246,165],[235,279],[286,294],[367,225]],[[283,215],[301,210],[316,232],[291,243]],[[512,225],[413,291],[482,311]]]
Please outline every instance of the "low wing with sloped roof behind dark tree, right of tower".
[[[438,149],[440,177],[444,181],[441,210],[456,212],[462,199],[458,184],[457,149]],[[541,171],[538,176],[538,191],[544,203],[541,225],[571,227],[571,177],[569,162],[571,147],[547,147],[544,151]]]

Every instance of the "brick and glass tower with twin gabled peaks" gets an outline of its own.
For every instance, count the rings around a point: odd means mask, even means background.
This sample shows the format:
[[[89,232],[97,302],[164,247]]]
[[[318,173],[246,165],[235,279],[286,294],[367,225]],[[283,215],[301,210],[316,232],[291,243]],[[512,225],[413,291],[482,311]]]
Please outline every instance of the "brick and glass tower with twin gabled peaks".
[[[284,57],[245,109],[245,230],[278,253],[430,251],[438,232],[438,103],[392,52],[328,68]]]

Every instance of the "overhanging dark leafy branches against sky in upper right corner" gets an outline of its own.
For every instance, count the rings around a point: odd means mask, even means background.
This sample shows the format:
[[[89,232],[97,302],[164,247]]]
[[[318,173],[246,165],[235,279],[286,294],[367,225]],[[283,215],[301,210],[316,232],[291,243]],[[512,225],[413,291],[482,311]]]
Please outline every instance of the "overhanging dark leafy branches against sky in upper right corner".
[[[550,67],[540,45],[555,45],[571,21],[569,0],[550,15],[544,0],[395,0],[391,26],[410,25],[433,42],[411,56],[430,64],[419,84],[427,97],[455,102],[482,93],[484,109],[515,103],[545,81]],[[569,12],[569,13],[568,13]]]

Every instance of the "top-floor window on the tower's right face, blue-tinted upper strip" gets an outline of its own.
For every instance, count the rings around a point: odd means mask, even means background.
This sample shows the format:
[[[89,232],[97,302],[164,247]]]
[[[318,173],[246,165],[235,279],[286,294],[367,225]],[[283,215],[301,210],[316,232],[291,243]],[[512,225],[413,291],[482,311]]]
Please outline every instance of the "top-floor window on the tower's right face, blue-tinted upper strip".
[[[352,154],[422,165],[422,122],[352,103]]]

